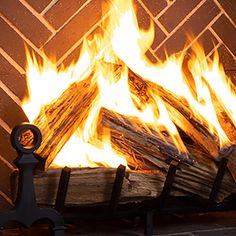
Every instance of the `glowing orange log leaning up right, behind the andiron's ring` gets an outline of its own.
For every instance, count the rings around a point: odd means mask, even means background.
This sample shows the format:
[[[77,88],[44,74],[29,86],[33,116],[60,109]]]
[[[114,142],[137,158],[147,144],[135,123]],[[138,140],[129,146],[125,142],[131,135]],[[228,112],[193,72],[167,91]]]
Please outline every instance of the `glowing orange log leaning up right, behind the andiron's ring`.
[[[42,143],[36,151],[46,158],[46,168],[78,127],[83,127],[98,88],[93,74],[75,82],[53,103],[44,107],[33,121],[42,133]]]

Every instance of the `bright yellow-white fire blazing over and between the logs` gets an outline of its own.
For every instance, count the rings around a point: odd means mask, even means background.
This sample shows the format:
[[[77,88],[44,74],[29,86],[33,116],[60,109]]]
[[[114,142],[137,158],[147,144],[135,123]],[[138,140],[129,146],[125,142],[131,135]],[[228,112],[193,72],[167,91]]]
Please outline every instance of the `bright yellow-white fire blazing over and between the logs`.
[[[27,53],[29,97],[23,109],[29,120],[34,119],[46,105],[57,99],[73,82],[82,81],[94,72],[99,95],[83,127],[79,127],[57,155],[52,166],[111,166],[127,165],[126,157],[112,147],[110,133],[98,137],[96,127],[102,107],[125,116],[136,117],[144,127],[156,131],[165,139],[163,131],[176,145],[179,153],[187,148],[170,115],[171,110],[158,89],[147,88],[149,99],[140,102],[130,91],[129,70],[172,94],[184,103],[200,124],[206,127],[224,148],[233,140],[225,133],[218,116],[225,112],[236,125],[236,94],[233,85],[219,63],[217,53],[208,61],[203,49],[193,48],[188,61],[189,79],[183,71],[184,49],[165,62],[152,63],[145,53],[154,39],[154,26],[146,31],[138,26],[132,1],[113,1],[109,20],[103,25],[104,35],[85,39],[79,59],[67,68],[58,69],[55,62],[44,60],[40,65],[34,55]],[[113,65],[113,66],[112,66]],[[116,70],[114,65],[117,65]],[[69,156],[70,158],[65,158]]]

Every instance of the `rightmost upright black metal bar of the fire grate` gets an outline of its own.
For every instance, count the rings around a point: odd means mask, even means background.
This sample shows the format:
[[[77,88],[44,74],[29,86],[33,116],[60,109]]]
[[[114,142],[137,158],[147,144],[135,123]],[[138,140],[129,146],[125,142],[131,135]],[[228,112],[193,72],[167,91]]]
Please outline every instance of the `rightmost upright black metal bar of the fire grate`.
[[[211,193],[209,196],[209,203],[210,204],[215,203],[215,201],[217,199],[219,189],[220,189],[220,186],[221,186],[224,174],[225,174],[225,170],[227,167],[227,163],[228,163],[228,159],[225,157],[223,157],[220,160],[220,165],[219,165],[219,168],[218,168],[218,171],[217,171],[217,174],[216,174],[216,177],[215,177],[212,189],[211,189]]]

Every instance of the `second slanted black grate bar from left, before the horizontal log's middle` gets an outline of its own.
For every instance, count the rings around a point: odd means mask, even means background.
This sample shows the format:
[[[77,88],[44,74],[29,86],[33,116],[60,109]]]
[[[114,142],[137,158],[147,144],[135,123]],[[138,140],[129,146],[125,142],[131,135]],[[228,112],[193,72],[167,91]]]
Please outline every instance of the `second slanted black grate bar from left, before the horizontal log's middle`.
[[[109,209],[112,213],[115,212],[117,205],[120,200],[120,195],[121,195],[121,189],[123,185],[123,180],[125,177],[125,171],[126,167],[123,165],[119,165],[119,167],[116,170],[116,177],[114,180],[112,192],[111,192],[111,199],[109,203]]]

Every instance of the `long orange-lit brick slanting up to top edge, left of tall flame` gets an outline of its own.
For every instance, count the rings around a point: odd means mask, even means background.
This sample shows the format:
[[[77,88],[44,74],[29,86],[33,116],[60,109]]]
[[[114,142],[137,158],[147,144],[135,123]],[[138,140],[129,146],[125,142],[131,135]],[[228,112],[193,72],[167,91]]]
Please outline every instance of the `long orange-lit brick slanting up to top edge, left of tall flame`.
[[[92,0],[86,5],[45,45],[46,54],[57,59],[61,58],[67,50],[102,18],[101,4],[100,0]]]

